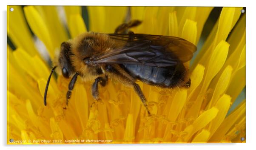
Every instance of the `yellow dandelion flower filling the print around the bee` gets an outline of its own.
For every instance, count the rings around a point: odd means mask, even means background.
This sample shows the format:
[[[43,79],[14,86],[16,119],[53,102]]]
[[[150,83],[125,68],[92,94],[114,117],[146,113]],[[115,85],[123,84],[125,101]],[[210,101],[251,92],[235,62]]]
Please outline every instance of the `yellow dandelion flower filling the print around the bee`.
[[[241,9],[222,8],[204,40],[212,7],[8,6],[7,34],[14,46],[9,42],[7,47],[7,143],[245,142],[245,99],[230,110],[245,88]],[[138,81],[148,116],[133,89],[110,81],[100,87],[102,101],[95,102],[92,83],[78,76],[65,110],[70,79],[55,74],[44,106],[51,65],[33,38],[53,60],[63,41],[87,31],[113,33],[128,20],[142,20],[131,29],[134,33],[181,37],[199,45],[190,67],[191,87],[161,89]]]

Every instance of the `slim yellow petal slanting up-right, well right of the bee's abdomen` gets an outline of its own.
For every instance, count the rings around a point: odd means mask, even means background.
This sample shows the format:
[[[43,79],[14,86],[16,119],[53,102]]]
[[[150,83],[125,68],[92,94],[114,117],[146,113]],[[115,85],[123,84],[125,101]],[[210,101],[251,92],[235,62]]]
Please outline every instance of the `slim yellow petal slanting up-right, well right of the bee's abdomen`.
[[[208,107],[215,105],[215,103],[219,99],[219,96],[221,96],[227,90],[228,85],[230,83],[232,71],[233,68],[230,65],[228,65],[228,67],[226,67],[225,70],[222,72],[222,75],[220,76],[216,84],[216,88],[213,92],[213,96]]]

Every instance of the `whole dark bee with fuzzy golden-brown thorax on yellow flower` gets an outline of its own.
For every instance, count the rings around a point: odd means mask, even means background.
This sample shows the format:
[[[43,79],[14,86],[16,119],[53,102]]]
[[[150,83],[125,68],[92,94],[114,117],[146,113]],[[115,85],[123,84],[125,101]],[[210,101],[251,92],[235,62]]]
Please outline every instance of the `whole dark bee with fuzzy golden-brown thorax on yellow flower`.
[[[134,88],[149,115],[147,100],[137,80],[160,88],[190,87],[189,71],[184,63],[193,57],[196,46],[179,37],[134,34],[132,31],[123,33],[140,23],[132,20],[119,25],[114,34],[83,33],[61,44],[57,65],[51,74],[59,67],[65,78],[71,78],[66,105],[77,76],[94,81],[91,94],[95,100],[99,100],[99,84],[104,87],[108,79]],[[46,84],[44,105],[51,74]]]

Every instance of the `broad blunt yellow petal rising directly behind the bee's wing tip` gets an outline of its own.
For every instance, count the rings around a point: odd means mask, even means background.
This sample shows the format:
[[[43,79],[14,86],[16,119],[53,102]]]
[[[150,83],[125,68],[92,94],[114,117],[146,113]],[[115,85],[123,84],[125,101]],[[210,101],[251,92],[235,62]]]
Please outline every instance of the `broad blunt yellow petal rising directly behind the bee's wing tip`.
[[[196,22],[193,20],[187,19],[182,29],[181,37],[189,42],[192,42],[196,45],[196,34],[197,34],[197,27]]]

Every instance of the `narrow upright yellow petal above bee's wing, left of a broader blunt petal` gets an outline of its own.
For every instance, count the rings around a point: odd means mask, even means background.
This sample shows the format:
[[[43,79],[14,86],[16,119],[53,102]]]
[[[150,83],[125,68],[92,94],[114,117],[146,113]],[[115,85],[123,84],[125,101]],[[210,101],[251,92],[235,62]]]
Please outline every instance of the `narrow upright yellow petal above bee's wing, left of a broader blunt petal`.
[[[169,35],[174,37],[178,36],[178,23],[176,11],[169,13]]]

